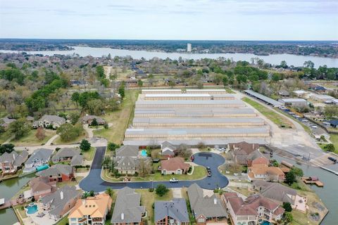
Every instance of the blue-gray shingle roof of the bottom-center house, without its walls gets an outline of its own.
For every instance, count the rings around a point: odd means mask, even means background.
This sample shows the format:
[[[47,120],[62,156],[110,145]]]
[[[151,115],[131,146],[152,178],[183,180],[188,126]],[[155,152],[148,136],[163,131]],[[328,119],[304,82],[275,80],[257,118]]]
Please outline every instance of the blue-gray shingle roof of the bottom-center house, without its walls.
[[[173,218],[180,222],[189,222],[187,204],[184,198],[174,198],[172,201],[155,202],[155,222],[165,217]]]

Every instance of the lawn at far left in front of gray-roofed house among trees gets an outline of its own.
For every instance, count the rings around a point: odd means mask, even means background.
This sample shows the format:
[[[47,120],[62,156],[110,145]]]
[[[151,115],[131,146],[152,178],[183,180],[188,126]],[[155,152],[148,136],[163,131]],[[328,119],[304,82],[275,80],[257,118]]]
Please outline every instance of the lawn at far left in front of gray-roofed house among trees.
[[[13,143],[15,146],[39,146],[39,145],[46,143],[49,139],[51,139],[52,136],[56,134],[56,131],[46,130],[44,132],[46,137],[40,141],[35,136],[36,132],[37,130],[32,129],[27,135],[23,136],[22,138],[18,140],[13,140],[11,141],[11,143]]]

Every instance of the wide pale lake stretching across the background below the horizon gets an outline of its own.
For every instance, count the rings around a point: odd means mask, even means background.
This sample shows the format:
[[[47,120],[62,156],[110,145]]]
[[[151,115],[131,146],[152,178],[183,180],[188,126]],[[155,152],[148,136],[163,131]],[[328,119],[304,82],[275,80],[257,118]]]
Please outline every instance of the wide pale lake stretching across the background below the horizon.
[[[287,61],[287,65],[302,66],[303,63],[307,60],[311,60],[315,63],[315,68],[318,68],[320,65],[327,65],[328,68],[338,68],[338,58],[325,58],[317,56],[296,56],[291,54],[273,54],[270,56],[256,56],[252,53],[165,53],[159,51],[133,51],[133,50],[122,50],[122,49],[110,49],[110,48],[92,48],[92,47],[80,47],[74,46],[75,50],[71,51],[26,51],[30,54],[43,54],[45,56],[53,56],[54,54],[61,55],[73,55],[78,54],[79,56],[108,56],[111,53],[111,56],[131,56],[132,58],[146,58],[147,60],[157,57],[157,58],[171,58],[178,59],[180,57],[184,59],[201,59],[201,58],[232,58],[235,61],[246,60],[251,62],[251,58],[261,58],[266,63],[271,63],[273,65],[279,65],[282,60]],[[0,50],[2,53],[18,53],[18,51],[7,51]]]

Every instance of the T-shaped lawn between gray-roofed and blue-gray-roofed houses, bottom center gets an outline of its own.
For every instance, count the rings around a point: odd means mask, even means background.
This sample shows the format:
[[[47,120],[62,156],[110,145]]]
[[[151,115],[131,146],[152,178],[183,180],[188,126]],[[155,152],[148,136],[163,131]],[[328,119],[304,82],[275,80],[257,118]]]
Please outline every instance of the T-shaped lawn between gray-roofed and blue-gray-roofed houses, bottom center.
[[[156,195],[155,191],[149,192],[148,189],[137,189],[136,192],[141,194],[141,205],[146,207],[146,212],[148,212],[146,219],[149,221],[149,224],[154,224],[153,203],[155,201],[166,201],[173,199],[173,193],[171,190],[162,197]]]

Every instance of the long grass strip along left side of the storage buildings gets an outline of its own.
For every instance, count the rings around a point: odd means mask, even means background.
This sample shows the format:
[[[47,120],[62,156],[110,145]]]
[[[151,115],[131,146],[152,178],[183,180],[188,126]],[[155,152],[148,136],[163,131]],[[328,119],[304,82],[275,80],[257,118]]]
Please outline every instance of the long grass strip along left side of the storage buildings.
[[[120,144],[123,141],[125,129],[132,122],[134,117],[134,103],[137,101],[139,90],[126,90],[125,99],[122,103],[122,109],[106,113],[103,116],[106,122],[113,124],[108,129],[99,129],[94,131],[94,136],[101,136],[108,141]]]

